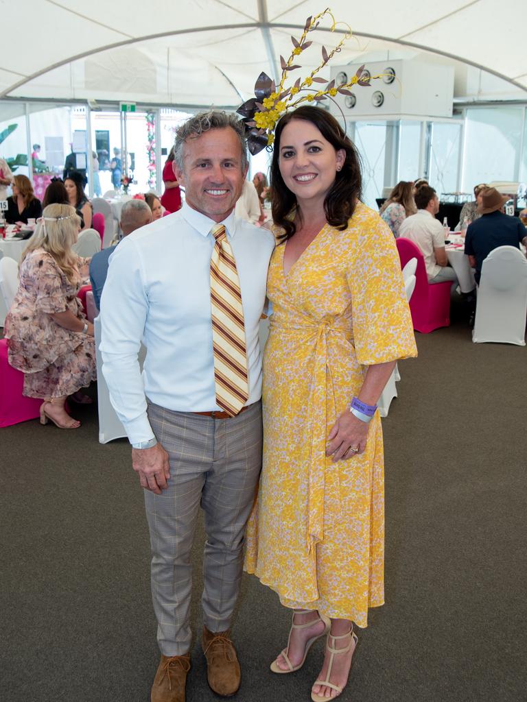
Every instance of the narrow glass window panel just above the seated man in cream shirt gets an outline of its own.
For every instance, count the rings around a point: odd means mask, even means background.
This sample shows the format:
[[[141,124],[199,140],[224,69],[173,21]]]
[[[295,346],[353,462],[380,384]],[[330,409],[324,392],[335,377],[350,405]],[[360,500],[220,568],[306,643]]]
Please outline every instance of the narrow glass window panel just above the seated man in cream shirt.
[[[432,125],[429,183],[439,199],[445,193],[457,192],[460,159],[461,124],[434,122]]]

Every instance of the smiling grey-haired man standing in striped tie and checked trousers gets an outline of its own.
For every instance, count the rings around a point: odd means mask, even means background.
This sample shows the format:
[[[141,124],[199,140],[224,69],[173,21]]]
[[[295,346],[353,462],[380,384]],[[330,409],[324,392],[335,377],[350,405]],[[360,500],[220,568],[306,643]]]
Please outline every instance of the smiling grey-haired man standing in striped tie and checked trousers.
[[[152,702],[185,698],[190,548],[200,505],[207,678],[223,696],[240,685],[229,629],[261,470],[258,329],[274,248],[270,232],[233,213],[247,174],[245,128],[234,115],[213,111],[186,121],[174,163],[186,203],[119,244],[101,315],[103,373],[145,489],[162,654]]]

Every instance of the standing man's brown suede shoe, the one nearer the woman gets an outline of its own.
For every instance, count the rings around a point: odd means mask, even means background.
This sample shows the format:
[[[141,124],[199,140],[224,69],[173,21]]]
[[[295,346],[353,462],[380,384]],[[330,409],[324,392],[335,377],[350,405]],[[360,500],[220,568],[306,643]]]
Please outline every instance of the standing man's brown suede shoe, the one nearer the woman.
[[[207,680],[217,695],[230,697],[240,687],[240,663],[229,630],[216,634],[203,627],[203,653],[207,658]]]

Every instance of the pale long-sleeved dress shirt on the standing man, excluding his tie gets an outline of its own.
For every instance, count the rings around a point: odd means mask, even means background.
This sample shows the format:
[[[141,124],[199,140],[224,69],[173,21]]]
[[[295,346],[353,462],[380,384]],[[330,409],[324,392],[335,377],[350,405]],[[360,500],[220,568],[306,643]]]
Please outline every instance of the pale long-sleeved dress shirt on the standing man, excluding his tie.
[[[154,436],[146,397],[181,412],[219,410],[214,388],[210,260],[214,222],[187,204],[125,237],[112,256],[100,300],[103,374],[132,444]],[[249,399],[261,397],[259,319],[271,232],[235,218],[223,221],[236,260],[247,345]],[[143,376],[138,350],[147,355]]]

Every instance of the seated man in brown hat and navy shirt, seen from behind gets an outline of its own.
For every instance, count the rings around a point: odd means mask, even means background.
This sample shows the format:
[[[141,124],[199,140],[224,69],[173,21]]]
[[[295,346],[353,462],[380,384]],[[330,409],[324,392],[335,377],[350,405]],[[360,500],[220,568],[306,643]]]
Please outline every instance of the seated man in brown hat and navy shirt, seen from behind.
[[[478,211],[481,217],[471,223],[464,240],[464,252],[469,257],[469,263],[476,268],[474,277],[479,285],[481,266],[490,251],[498,246],[515,246],[520,243],[527,245],[527,230],[517,217],[509,217],[502,212],[503,205],[509,199],[500,195],[495,187],[483,190]]]

